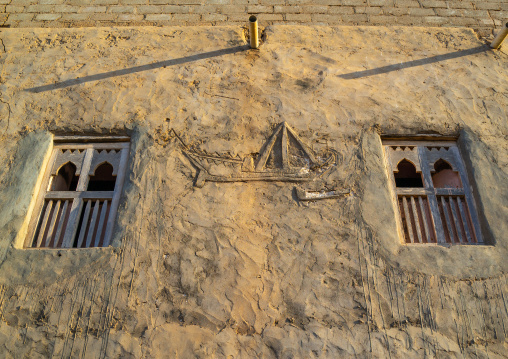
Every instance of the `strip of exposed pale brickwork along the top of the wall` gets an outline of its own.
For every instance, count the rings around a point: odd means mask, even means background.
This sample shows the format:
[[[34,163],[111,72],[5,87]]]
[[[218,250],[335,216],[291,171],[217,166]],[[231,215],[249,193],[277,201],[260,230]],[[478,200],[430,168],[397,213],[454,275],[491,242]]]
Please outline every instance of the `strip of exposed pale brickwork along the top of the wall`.
[[[506,0],[0,0],[9,27],[270,24],[502,26]]]

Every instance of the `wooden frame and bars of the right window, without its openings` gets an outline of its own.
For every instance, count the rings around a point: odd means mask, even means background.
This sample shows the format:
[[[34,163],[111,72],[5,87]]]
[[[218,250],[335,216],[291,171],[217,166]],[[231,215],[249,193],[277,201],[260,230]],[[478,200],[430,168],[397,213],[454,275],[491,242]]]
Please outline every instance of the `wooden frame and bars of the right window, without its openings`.
[[[390,152],[390,148],[393,146],[397,147],[414,147],[416,148],[416,154],[412,154],[410,156],[400,156],[398,155],[396,158],[392,156]],[[397,217],[397,229],[399,233],[399,237],[401,241],[405,245],[484,245],[485,242],[482,237],[480,222],[478,219],[478,212],[476,203],[473,198],[472,189],[469,184],[466,167],[464,165],[464,161],[462,159],[462,155],[460,153],[460,149],[457,143],[457,140],[452,139],[393,139],[393,138],[382,138],[382,147],[384,153],[385,166],[388,171],[388,177],[391,184],[391,192],[392,192],[392,201],[395,207],[396,217]],[[431,148],[439,148],[439,147],[447,147],[448,148],[448,158],[443,158],[443,156],[429,155],[427,152],[430,152],[428,149]],[[400,157],[400,158],[399,158]],[[412,158],[411,158],[412,157]],[[434,158],[435,157],[435,158]],[[422,187],[397,187],[395,183],[394,176],[394,168],[397,168],[398,164],[406,159],[409,162],[413,163],[417,169],[417,173],[421,174],[423,181]],[[453,162],[453,167],[455,167],[456,172],[459,174],[459,178],[462,182],[462,188],[435,188],[434,182],[432,180],[432,173],[434,172],[431,166],[433,166],[439,159],[443,159],[446,162]],[[396,163],[394,163],[397,161]],[[414,163],[414,162],[417,163]],[[426,197],[427,205],[430,211],[430,220],[432,221],[434,234],[436,238],[436,242],[423,242],[420,237],[420,224],[421,221],[409,221],[411,223],[415,223],[417,228],[414,230],[413,234],[410,234],[410,238],[406,238],[405,230],[404,230],[404,220],[400,209],[399,197],[411,197],[411,196],[422,196]],[[448,197],[448,202],[444,200],[444,198]],[[452,198],[455,199],[454,206],[451,205]],[[463,200],[458,200],[457,198],[462,197]],[[413,198],[413,197],[412,197]],[[441,198],[441,201],[445,201],[438,204],[438,198]],[[412,200],[412,199],[411,199]],[[458,203],[462,202],[463,203]],[[405,205],[405,204],[404,204]],[[452,207],[457,208],[452,208]],[[464,207],[464,205],[466,207]],[[411,206],[411,205],[410,205]],[[417,204],[418,206],[418,204]],[[413,212],[410,216],[415,218],[421,218],[419,216],[420,213],[423,213],[423,207],[420,208],[421,211],[418,213]],[[443,206],[447,206],[443,209]],[[411,206],[414,209],[414,203]],[[457,210],[458,209],[458,210]],[[404,208],[407,211],[407,208]],[[442,213],[440,212],[442,210]],[[465,214],[464,214],[465,212]],[[406,215],[408,212],[405,213]],[[449,214],[449,216],[448,216]],[[457,218],[453,217],[457,216]],[[469,215],[469,217],[467,217]],[[446,223],[443,224],[442,218],[445,219]],[[468,222],[468,218],[470,222]],[[425,219],[422,219],[425,221]],[[418,222],[418,223],[417,223]],[[451,223],[450,223],[451,222]],[[425,224],[425,223],[424,223]],[[445,233],[445,225],[446,225],[446,234]],[[460,225],[460,228],[459,228]],[[427,224],[425,224],[425,231],[428,233]],[[453,230],[453,228],[455,230]],[[465,229],[468,227],[468,229]],[[460,230],[461,233],[458,233]],[[474,231],[473,233],[468,233],[468,230]],[[452,232],[453,233],[450,233]],[[412,232],[411,227],[408,228],[408,232]],[[415,236],[414,233],[417,233],[418,236]],[[423,233],[423,231],[421,231]],[[447,236],[450,239],[447,241]],[[472,236],[472,237],[469,237]],[[418,238],[416,238],[418,237]],[[453,237],[453,238],[452,238]],[[476,239],[476,241],[472,241],[471,239]],[[427,241],[429,237],[427,235]]]

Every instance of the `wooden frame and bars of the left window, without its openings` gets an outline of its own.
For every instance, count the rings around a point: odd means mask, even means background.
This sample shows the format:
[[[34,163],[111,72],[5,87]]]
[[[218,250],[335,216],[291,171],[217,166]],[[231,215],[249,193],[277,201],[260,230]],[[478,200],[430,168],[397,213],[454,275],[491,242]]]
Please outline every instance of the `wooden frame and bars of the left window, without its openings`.
[[[55,170],[55,161],[57,160],[58,152],[60,150],[70,149],[83,150],[83,159],[81,162],[79,181],[75,191],[50,191],[52,172],[57,172],[61,166],[65,165],[70,161],[63,161],[58,169]],[[104,162],[110,163],[110,161],[103,161],[99,163],[93,163],[94,152],[96,150],[119,150],[116,161],[116,182],[114,191],[87,191],[87,186],[90,181],[90,176],[95,170],[101,166]],[[105,234],[103,237],[103,244],[101,247],[107,247],[110,245],[111,237],[113,235],[114,224],[116,220],[116,214],[118,211],[118,204],[122,193],[122,188],[125,180],[125,172],[127,169],[127,162],[130,151],[130,137],[127,136],[55,136],[53,138],[52,146],[49,149],[51,152],[49,161],[47,162],[46,168],[43,169],[44,175],[36,194],[36,202],[33,211],[31,212],[31,218],[29,220],[28,230],[26,237],[23,242],[24,249],[85,249],[85,248],[98,248],[98,246],[92,245],[86,247],[73,247],[76,240],[77,230],[80,223],[80,218],[83,210],[85,210],[85,202],[92,200],[108,200],[110,201],[110,208],[107,212],[107,221],[103,223],[106,226]],[[111,165],[114,165],[110,163]],[[91,168],[95,165],[95,168]],[[77,166],[76,166],[77,167]],[[78,170],[78,169],[77,169]],[[65,231],[63,234],[61,246],[56,246],[58,243],[53,243],[52,247],[49,246],[37,246],[35,235],[37,234],[39,223],[41,222],[42,211],[44,208],[45,201],[53,200],[69,200],[71,205],[70,212],[65,222]],[[61,201],[59,201],[61,202]],[[59,204],[60,205],[60,204]],[[67,204],[65,204],[66,206]],[[65,207],[64,207],[65,208]],[[49,213],[49,212],[48,212]],[[62,214],[64,214],[62,209]],[[64,214],[65,215],[65,214]],[[92,213],[90,213],[92,215]],[[56,220],[56,216],[55,217]],[[98,219],[96,217],[95,219]],[[55,221],[53,221],[55,222]],[[54,225],[43,220],[44,226]],[[58,232],[56,232],[58,233]],[[53,235],[51,235],[53,237]],[[60,236],[58,236],[60,238]],[[100,239],[100,237],[99,237]],[[42,238],[44,244],[46,240]],[[37,243],[41,242],[37,239]],[[57,242],[56,240],[54,242]],[[42,242],[41,242],[42,243]],[[48,243],[50,244],[51,241]],[[83,243],[85,244],[85,243]]]

